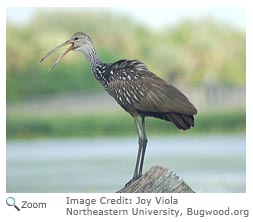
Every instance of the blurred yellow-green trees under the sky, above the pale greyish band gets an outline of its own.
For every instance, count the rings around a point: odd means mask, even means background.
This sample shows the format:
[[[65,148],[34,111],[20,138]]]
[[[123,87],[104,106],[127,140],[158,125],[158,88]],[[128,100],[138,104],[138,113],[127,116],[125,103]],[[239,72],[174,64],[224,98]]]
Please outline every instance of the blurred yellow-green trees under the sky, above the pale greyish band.
[[[70,53],[49,74],[56,55],[39,62],[77,31],[92,37],[103,61],[139,59],[172,84],[245,85],[245,32],[211,17],[154,30],[109,10],[43,10],[27,24],[7,22],[7,103],[102,89],[78,53]]]

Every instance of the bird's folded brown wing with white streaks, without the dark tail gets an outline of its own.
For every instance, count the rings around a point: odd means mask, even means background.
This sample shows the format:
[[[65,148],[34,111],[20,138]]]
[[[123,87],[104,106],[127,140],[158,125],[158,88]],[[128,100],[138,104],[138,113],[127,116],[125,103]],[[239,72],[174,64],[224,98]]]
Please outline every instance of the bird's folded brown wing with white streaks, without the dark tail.
[[[143,112],[197,113],[182,92],[138,60],[120,60],[110,70],[117,75],[108,84],[108,92],[123,107],[131,106]]]

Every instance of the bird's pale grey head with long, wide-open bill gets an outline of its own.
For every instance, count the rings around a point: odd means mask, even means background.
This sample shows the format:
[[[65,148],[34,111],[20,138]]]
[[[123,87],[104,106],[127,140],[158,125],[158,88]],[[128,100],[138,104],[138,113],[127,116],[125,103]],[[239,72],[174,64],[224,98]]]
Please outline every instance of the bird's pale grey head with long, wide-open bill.
[[[56,48],[52,49],[50,52],[48,52],[43,58],[40,60],[41,62],[44,61],[49,55],[54,53],[55,51],[62,49],[65,46],[69,46],[62,55],[56,60],[56,62],[52,65],[49,71],[51,71],[58,62],[61,61],[61,59],[70,51],[82,51],[84,53],[88,53],[88,50],[90,47],[92,47],[92,40],[91,38],[82,32],[77,32],[74,35],[71,36],[70,39],[68,39],[66,42],[62,43],[61,45],[57,46]]]

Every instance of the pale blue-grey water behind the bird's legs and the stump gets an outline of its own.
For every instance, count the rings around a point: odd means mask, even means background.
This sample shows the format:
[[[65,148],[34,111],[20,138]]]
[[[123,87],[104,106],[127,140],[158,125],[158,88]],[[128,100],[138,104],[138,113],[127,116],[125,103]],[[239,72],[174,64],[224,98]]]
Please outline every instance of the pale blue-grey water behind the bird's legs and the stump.
[[[245,136],[150,137],[144,172],[169,168],[196,192],[245,192]],[[7,142],[7,192],[115,192],[131,178],[137,139]]]

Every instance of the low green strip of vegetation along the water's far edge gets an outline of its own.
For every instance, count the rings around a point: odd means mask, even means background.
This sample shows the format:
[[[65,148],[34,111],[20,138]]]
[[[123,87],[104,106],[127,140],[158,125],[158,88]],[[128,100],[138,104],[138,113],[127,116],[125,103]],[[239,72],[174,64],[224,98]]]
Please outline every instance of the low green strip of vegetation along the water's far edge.
[[[245,133],[244,111],[202,113],[195,127],[182,131],[166,121],[147,119],[149,135],[195,133]],[[136,136],[134,121],[126,113],[86,115],[7,115],[7,139],[45,137]]]

